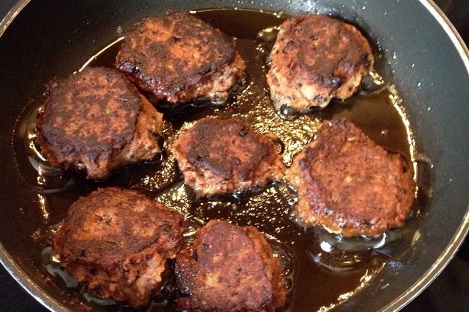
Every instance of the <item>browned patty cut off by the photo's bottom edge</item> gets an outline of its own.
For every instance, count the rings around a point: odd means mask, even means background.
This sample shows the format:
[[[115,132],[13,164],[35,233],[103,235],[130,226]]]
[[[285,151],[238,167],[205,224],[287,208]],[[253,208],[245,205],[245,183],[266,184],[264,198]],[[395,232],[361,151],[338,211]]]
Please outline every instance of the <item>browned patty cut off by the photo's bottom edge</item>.
[[[262,234],[212,220],[176,256],[177,305],[190,312],[273,312],[286,292]]]

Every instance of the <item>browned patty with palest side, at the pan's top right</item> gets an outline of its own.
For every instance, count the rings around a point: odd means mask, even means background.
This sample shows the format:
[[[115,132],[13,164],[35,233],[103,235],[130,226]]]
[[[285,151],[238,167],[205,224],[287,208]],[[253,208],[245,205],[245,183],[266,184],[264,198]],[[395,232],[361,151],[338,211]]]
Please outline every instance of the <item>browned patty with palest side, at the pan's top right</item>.
[[[280,26],[267,74],[274,105],[300,111],[325,107],[331,98],[357,91],[374,58],[368,41],[353,25],[308,14]]]

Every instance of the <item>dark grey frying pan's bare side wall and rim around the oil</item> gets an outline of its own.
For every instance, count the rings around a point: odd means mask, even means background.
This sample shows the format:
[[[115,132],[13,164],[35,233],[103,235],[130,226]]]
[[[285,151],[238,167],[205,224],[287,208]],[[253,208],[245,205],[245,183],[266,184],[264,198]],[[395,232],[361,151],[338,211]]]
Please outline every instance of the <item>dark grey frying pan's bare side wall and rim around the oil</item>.
[[[20,175],[12,144],[23,107],[55,76],[71,73],[116,38],[116,29],[168,9],[238,7],[298,15],[332,12],[379,40],[405,98],[419,153],[431,160],[431,186],[410,248],[373,283],[334,311],[390,312],[412,300],[444,269],[469,228],[469,52],[428,0],[22,0],[0,23],[0,261],[51,311],[82,311],[47,283],[33,244],[42,219],[35,190]],[[384,287],[385,286],[385,287]]]

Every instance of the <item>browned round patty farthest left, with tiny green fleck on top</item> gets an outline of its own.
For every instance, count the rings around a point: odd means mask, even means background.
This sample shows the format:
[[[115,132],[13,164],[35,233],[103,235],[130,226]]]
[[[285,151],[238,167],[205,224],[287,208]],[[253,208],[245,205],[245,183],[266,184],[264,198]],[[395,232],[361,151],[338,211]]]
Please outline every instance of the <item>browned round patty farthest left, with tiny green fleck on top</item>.
[[[103,179],[160,153],[163,115],[119,72],[85,68],[51,83],[36,123],[36,144],[54,167]]]

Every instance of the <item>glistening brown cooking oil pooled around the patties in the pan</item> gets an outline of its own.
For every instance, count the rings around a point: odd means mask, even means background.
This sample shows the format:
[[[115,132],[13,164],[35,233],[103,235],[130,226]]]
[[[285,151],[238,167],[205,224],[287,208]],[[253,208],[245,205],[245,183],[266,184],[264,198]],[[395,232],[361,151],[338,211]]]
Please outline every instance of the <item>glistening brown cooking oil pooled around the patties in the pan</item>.
[[[43,270],[62,276],[67,285],[60,278],[52,279],[60,287],[76,286],[73,278],[59,268],[60,264],[50,248],[54,229],[79,196],[98,187],[119,186],[139,190],[185,215],[185,236],[189,240],[197,228],[210,219],[255,226],[269,238],[281,261],[282,273],[291,291],[286,310],[327,311],[366,287],[386,261],[408,248],[418,226],[415,218],[401,229],[371,238],[345,238],[319,228],[305,230],[291,218],[290,211],[296,200],[284,181],[258,192],[198,197],[184,184],[168,151],[178,133],[201,117],[237,117],[260,133],[275,135],[282,143],[284,162],[291,165],[293,157],[313,139],[324,121],[347,118],[377,144],[405,156],[416,171],[413,137],[402,101],[391,85],[387,63],[379,55],[375,56],[376,71],[363,80],[361,91],[352,98],[332,101],[325,109],[311,110],[303,115],[292,115],[288,110],[276,112],[269,98],[265,74],[270,65],[268,54],[276,39],[278,25],[284,19],[265,12],[232,9],[194,14],[234,39],[236,49],[246,61],[247,81],[240,93],[225,105],[197,103],[172,110],[163,109],[164,152],[153,161],[122,168],[100,182],[86,181],[74,173],[63,173],[48,166],[34,146],[34,119],[40,105],[31,104],[25,109],[19,124],[26,125],[28,131],[21,147],[24,155],[19,155],[19,162],[24,178],[38,189],[38,196],[43,198],[39,208],[44,210],[44,222],[34,238],[39,256],[43,250]],[[109,44],[91,57],[85,66],[112,67],[121,40],[116,39]],[[412,213],[418,214],[422,205],[423,199],[418,197]],[[69,292],[73,300],[88,306],[113,304],[100,301],[88,292],[80,294],[75,289]],[[156,299],[148,311],[174,311],[171,298]],[[120,311],[127,310],[131,311],[122,306]]]

